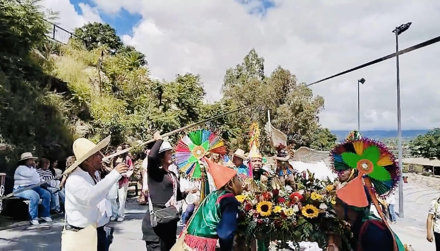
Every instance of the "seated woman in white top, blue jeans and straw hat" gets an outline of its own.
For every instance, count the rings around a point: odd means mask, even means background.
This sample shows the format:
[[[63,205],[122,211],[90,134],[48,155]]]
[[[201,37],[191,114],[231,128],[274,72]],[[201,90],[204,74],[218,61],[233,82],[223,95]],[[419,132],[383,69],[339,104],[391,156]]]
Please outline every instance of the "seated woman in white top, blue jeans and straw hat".
[[[35,169],[35,160],[37,157],[32,153],[23,153],[18,161],[18,167],[14,173],[14,191],[32,186],[41,182],[40,175]],[[51,210],[51,193],[40,186],[28,189],[26,191],[15,194],[15,196],[29,200],[29,216],[30,224],[38,225],[38,204],[40,199],[43,205],[43,211],[40,211],[41,218],[45,222],[52,222],[50,217]]]

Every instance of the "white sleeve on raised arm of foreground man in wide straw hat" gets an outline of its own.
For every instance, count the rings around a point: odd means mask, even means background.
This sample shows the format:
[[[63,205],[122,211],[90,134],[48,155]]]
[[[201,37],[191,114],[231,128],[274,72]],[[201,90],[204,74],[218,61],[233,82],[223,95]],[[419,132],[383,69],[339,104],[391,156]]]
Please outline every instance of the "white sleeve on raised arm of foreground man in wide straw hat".
[[[69,180],[69,178],[77,180]],[[116,170],[113,170],[105,178],[96,183],[95,186],[84,182],[84,180],[79,180],[82,179],[81,177],[71,176],[69,178],[66,182],[66,189],[75,191],[72,194],[78,202],[94,207],[107,196],[107,193],[114,183],[121,178],[121,175]]]

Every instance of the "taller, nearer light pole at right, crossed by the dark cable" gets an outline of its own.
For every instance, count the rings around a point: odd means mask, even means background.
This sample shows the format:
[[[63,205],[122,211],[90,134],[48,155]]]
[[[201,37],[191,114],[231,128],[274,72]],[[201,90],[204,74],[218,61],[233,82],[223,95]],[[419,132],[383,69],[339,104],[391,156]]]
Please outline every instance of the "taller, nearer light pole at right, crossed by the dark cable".
[[[392,32],[396,33],[396,52],[399,51],[399,35],[406,31],[411,25],[411,22],[396,27]],[[400,121],[400,80],[399,80],[399,55],[396,55],[396,69],[397,69],[397,140],[399,147],[399,217],[403,218],[403,168],[402,168],[402,127]]]

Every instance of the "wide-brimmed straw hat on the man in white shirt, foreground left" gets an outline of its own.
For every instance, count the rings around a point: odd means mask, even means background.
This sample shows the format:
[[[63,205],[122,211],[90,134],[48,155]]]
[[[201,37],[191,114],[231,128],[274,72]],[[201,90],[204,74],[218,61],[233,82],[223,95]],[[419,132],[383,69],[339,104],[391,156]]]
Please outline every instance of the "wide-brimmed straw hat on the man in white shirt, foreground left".
[[[83,163],[84,160],[87,160],[88,157],[92,156],[95,153],[98,153],[101,149],[107,146],[110,143],[110,135],[107,138],[104,138],[98,144],[95,144],[88,140],[87,138],[78,138],[73,142],[73,153],[75,154],[76,161],[64,171],[63,174],[68,174],[75,170],[79,166],[79,164]]]

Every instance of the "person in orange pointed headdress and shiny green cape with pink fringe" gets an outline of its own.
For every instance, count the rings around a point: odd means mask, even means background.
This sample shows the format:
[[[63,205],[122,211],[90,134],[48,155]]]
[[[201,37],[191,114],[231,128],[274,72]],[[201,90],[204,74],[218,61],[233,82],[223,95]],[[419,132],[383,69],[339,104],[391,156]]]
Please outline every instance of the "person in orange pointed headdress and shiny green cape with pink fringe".
[[[204,158],[218,190],[202,201],[172,251],[214,251],[217,239],[221,251],[232,250],[240,206],[235,196],[242,193],[242,184],[236,170]]]

